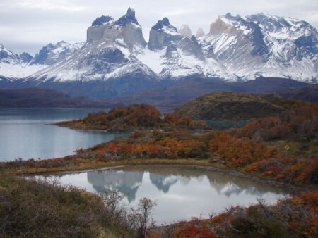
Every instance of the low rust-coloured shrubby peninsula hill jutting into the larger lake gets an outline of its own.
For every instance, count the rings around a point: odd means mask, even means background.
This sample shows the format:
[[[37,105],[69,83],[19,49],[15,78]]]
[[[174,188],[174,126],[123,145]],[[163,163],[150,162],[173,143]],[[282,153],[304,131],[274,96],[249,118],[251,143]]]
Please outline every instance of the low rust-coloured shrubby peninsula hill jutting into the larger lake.
[[[57,123],[79,130],[195,130],[205,129],[204,123],[199,123],[187,116],[176,114],[161,115],[157,108],[146,104],[135,104],[112,109],[109,113],[100,111],[89,113],[86,118]]]

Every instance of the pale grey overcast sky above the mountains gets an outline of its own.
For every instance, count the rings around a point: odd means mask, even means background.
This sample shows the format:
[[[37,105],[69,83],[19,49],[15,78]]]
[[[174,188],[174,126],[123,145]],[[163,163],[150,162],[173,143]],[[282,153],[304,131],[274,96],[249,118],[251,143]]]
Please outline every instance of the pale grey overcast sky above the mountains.
[[[115,19],[131,6],[148,39],[149,30],[167,17],[195,34],[218,15],[268,13],[306,20],[318,27],[318,0],[0,0],[0,43],[16,53],[35,54],[42,46],[61,40],[83,42],[86,29],[100,15]]]

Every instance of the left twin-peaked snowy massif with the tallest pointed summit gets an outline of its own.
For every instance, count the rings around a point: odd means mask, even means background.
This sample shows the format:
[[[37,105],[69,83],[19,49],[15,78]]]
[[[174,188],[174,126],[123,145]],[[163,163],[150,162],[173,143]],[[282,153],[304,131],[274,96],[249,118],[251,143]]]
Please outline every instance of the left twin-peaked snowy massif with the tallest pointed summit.
[[[110,16],[97,18],[88,27],[87,41],[81,49],[30,78],[41,78],[42,82],[87,82],[135,75],[155,80],[155,73],[135,56],[145,46],[141,26],[129,8],[116,21]]]

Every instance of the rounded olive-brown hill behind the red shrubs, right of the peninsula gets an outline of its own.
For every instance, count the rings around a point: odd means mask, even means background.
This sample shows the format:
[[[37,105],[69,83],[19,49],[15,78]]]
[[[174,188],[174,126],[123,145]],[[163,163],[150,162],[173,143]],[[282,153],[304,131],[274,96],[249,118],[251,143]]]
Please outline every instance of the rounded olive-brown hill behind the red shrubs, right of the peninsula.
[[[249,120],[276,115],[295,101],[273,96],[218,92],[201,96],[177,109],[178,115],[196,120]]]

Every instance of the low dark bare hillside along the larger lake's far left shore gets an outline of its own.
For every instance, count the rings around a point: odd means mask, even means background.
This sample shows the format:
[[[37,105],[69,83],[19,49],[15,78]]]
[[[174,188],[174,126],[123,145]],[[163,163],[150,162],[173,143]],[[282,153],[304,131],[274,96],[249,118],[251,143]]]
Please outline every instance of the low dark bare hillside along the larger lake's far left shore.
[[[0,108],[107,108],[110,105],[84,97],[71,98],[52,89],[0,90]]]

